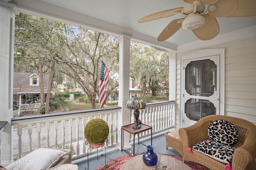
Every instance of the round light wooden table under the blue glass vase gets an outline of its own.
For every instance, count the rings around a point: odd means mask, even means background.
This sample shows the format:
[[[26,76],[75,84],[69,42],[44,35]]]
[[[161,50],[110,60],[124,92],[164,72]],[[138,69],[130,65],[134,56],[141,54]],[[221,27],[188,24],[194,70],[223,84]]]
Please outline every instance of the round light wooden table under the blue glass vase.
[[[169,166],[171,170],[191,170],[191,168],[182,161],[164,154],[157,154],[158,161],[155,166],[146,166],[142,160],[142,156],[143,154],[140,154],[130,158],[124,162],[120,170],[150,170],[164,165]]]

